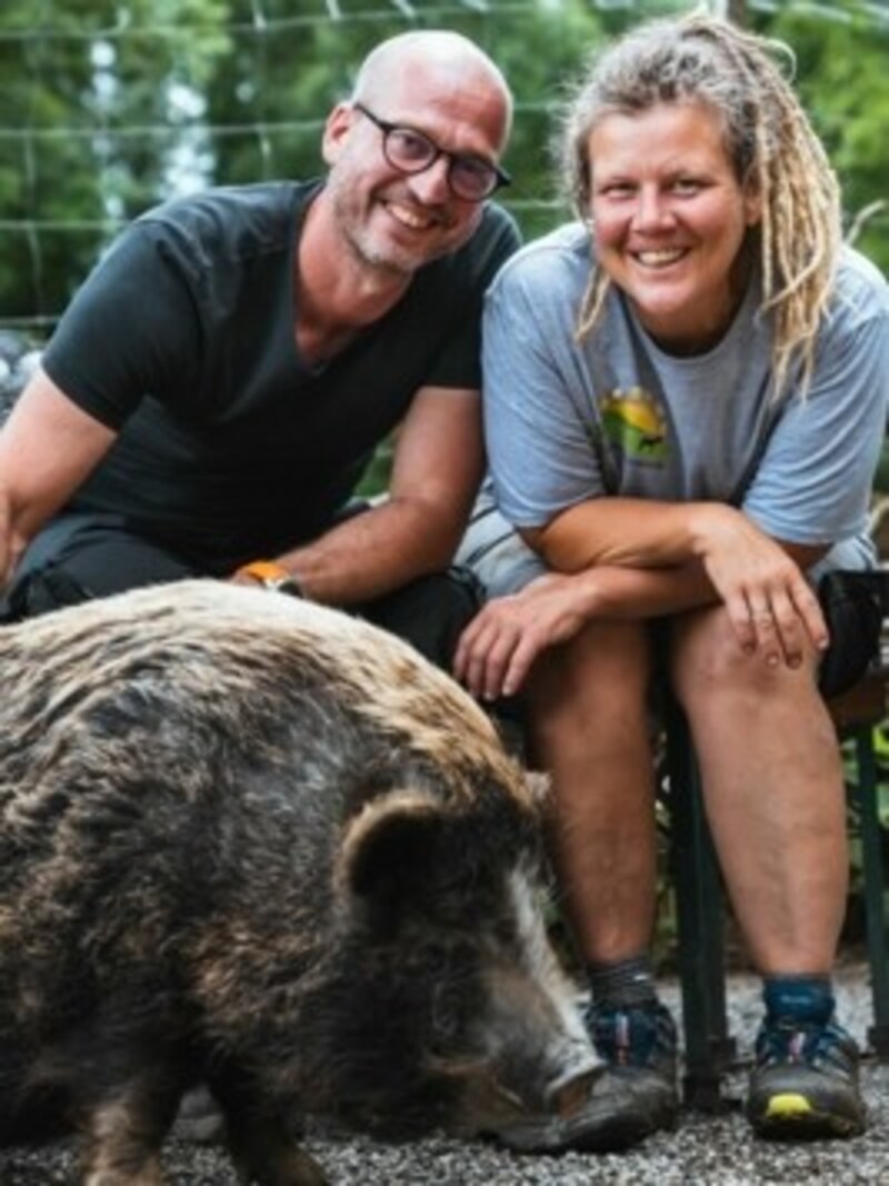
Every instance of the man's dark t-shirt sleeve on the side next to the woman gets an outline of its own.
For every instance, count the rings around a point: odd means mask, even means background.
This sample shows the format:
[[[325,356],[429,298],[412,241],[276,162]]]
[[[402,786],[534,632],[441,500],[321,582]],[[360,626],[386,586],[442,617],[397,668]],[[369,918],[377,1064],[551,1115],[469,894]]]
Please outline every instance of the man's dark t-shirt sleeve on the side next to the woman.
[[[428,385],[481,387],[482,299],[500,267],[519,246],[514,221],[499,206],[490,206],[473,240],[453,259],[453,278],[458,281],[453,331],[429,369]]]

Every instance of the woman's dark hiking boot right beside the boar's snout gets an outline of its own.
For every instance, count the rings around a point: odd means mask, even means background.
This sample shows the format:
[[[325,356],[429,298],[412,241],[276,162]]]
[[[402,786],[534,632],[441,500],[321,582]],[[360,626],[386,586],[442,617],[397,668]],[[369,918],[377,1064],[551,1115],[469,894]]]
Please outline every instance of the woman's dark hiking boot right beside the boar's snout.
[[[674,1128],[676,1025],[659,1002],[587,1010],[596,1053],[606,1063],[589,1098],[567,1117],[563,1147],[586,1153],[627,1149],[659,1129]]]

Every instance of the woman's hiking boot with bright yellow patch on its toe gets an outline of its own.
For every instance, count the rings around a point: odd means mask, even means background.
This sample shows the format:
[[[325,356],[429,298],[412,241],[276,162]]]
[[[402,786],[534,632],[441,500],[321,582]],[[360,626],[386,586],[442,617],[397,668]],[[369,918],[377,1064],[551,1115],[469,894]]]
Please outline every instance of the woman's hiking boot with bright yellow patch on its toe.
[[[836,1021],[767,1018],[755,1059],[747,1118],[760,1136],[802,1141],[864,1131],[858,1047]]]

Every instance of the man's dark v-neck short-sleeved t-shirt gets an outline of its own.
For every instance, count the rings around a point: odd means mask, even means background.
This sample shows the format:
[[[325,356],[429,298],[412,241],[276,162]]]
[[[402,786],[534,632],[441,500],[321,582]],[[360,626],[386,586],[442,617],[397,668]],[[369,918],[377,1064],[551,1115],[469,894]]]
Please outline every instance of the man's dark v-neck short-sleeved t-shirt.
[[[480,387],[482,296],[518,246],[509,215],[487,205],[463,248],[308,366],[294,259],[321,184],[210,190],[111,246],[43,359],[120,434],[71,509],[120,514],[186,555],[274,554],[331,523],[421,387]]]

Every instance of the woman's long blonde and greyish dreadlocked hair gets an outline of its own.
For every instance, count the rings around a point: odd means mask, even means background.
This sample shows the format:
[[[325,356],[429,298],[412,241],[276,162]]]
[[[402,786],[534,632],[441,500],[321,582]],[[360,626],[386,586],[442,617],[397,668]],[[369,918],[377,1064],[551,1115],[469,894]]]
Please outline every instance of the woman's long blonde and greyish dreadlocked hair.
[[[772,319],[773,391],[779,395],[791,368],[799,368],[804,391],[811,380],[842,232],[837,179],[776,55],[793,65],[788,46],[714,17],[641,26],[606,50],[570,104],[562,172],[575,210],[586,218],[589,138],[600,119],[692,101],[719,114],[738,181],[761,197],[761,223],[750,237],[759,237],[761,312]],[[605,272],[594,267],[578,339],[595,327],[609,287]]]

